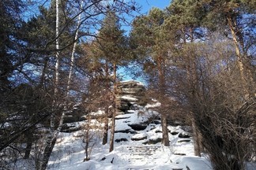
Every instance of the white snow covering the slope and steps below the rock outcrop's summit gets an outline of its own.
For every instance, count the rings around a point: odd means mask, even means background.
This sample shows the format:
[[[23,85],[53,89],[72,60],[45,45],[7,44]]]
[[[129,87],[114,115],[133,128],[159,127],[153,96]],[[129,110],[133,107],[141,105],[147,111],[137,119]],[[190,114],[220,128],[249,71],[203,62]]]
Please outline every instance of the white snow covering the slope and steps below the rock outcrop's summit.
[[[145,108],[150,108],[150,105]],[[111,153],[108,151],[108,143],[104,146],[101,144],[100,132],[91,131],[94,138],[91,143],[90,161],[84,161],[85,143],[83,142],[82,131],[62,133],[55,145],[48,168],[73,170],[212,169],[206,157],[194,157],[194,146],[191,137],[186,139],[178,137],[179,134],[186,134],[182,127],[168,127],[171,145],[169,147],[162,146],[160,142],[151,145],[143,144],[143,142],[160,139],[162,133],[157,121],[151,124],[148,121],[152,116],[152,111],[149,109],[142,111],[145,112],[143,115],[140,114],[141,110],[135,110],[130,114],[117,116],[115,131],[128,132],[115,133],[115,139],[126,139],[127,141],[115,142],[115,150]],[[94,122],[96,121],[94,120]],[[147,122],[145,130],[136,131],[137,134],[129,126],[130,124],[143,124],[145,122]],[[171,135],[171,132],[174,132],[173,135]],[[136,150],[139,152],[152,150],[150,151],[152,155],[145,157],[142,154],[141,157],[140,154],[136,153]]]

